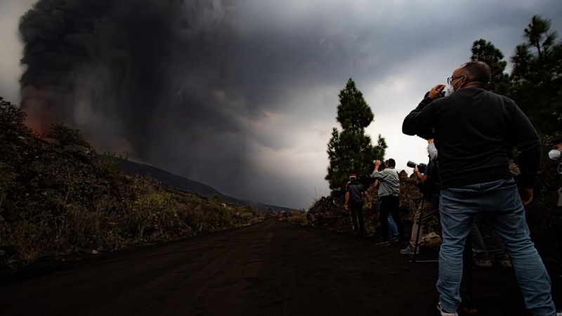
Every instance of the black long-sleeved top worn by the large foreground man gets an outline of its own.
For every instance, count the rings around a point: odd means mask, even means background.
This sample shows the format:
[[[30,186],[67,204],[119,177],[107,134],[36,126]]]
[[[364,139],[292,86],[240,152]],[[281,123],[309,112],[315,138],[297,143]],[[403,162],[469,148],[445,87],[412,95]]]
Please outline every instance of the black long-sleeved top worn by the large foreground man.
[[[432,128],[441,188],[511,177],[511,146],[521,151],[519,185],[532,187],[540,165],[540,139],[513,100],[479,88],[464,88],[433,102],[424,98],[404,119],[402,131],[413,136]]]

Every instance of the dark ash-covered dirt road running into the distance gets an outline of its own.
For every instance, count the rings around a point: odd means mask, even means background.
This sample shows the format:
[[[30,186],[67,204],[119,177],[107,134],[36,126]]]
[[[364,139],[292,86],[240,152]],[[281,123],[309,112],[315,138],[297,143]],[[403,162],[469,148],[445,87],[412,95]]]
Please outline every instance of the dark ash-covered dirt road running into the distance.
[[[0,315],[438,315],[437,263],[373,243],[268,218],[1,278]],[[477,315],[527,315],[513,270],[473,282]]]

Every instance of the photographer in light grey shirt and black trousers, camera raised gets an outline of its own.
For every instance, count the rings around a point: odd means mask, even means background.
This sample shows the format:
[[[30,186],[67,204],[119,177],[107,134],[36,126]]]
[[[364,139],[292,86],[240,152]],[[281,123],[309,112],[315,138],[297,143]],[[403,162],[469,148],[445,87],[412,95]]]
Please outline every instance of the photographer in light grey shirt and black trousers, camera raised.
[[[381,224],[381,242],[377,242],[375,246],[390,246],[388,241],[388,215],[392,214],[392,218],[398,227],[398,239],[400,242],[404,241],[404,226],[400,220],[400,213],[398,212],[400,200],[398,199],[398,191],[400,190],[400,180],[398,179],[398,172],[396,169],[396,162],[394,159],[386,161],[385,169],[379,171],[381,161],[374,161],[374,171],[372,178],[379,180],[379,201],[381,201],[381,213],[379,214],[379,223]]]

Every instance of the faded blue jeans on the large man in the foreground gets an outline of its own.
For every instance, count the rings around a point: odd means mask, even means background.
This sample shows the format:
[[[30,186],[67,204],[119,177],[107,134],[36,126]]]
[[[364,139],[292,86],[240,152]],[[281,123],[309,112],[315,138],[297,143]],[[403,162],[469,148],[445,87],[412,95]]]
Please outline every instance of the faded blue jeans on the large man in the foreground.
[[[464,242],[473,216],[482,213],[509,250],[527,309],[533,315],[556,315],[550,277],[529,237],[525,208],[513,179],[441,190],[439,212],[443,244],[439,252],[437,290],[445,311],[455,312],[461,303]]]

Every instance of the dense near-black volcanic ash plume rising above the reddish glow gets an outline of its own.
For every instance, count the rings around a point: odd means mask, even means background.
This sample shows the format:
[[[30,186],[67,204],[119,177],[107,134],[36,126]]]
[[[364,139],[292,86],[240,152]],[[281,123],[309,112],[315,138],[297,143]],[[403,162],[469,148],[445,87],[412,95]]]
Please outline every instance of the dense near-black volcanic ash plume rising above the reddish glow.
[[[46,131],[64,121],[101,149],[145,156],[174,125],[170,118],[189,119],[193,105],[185,100],[207,88],[185,86],[197,63],[190,55],[221,27],[221,8],[217,1],[39,1],[20,22],[27,124]]]

